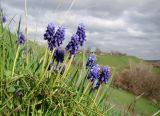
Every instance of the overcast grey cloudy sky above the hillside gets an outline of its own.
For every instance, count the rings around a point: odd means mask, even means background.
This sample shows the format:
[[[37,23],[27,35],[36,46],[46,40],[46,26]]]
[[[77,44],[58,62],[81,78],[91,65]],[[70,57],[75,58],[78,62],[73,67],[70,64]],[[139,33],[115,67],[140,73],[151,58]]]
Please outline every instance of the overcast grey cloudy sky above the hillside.
[[[8,18],[22,16],[24,24],[24,0],[1,0],[1,6]],[[27,0],[27,9],[33,40],[44,43],[46,26],[53,22],[66,27],[66,45],[84,23],[85,47],[160,60],[160,0]]]

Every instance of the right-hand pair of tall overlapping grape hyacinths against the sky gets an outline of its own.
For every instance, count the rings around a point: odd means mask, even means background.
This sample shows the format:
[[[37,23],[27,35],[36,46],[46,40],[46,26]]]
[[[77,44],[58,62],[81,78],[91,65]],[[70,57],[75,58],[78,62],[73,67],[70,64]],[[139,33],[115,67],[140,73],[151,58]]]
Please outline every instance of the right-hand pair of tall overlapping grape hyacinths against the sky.
[[[85,34],[85,26],[83,24],[79,24],[76,34],[71,37],[71,41],[66,46],[66,50],[71,55],[76,55],[79,45],[82,46],[84,41],[86,40]]]

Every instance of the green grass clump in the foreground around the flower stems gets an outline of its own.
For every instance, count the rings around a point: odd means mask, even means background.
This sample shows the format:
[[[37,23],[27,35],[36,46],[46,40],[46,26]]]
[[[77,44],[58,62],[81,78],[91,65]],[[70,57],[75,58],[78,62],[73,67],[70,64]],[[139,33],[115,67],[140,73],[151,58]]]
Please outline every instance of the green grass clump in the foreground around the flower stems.
[[[1,19],[1,18],[0,18]],[[105,98],[107,85],[94,89],[93,81],[87,80],[90,69],[79,66],[80,59],[65,56],[63,63],[53,59],[54,50],[42,49],[37,44],[17,45],[20,32],[12,34],[4,28],[1,20],[0,33],[0,115],[106,115],[112,107]],[[81,43],[82,44],[82,43]],[[42,49],[39,51],[39,49]],[[27,52],[27,53],[26,53]],[[76,51],[74,51],[74,54]],[[72,65],[72,60],[75,65]],[[50,62],[56,63],[60,70],[48,70]],[[63,65],[66,69],[63,73]],[[103,91],[104,90],[104,91]],[[108,110],[107,110],[108,109]]]

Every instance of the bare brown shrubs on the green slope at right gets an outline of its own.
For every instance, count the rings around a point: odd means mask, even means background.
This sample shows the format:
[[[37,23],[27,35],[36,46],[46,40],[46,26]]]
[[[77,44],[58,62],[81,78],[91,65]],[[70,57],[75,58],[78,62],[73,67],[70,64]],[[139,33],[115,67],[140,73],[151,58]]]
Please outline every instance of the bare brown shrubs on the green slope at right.
[[[122,89],[160,101],[160,76],[152,73],[152,66],[144,62],[130,65],[117,74],[113,84]]]

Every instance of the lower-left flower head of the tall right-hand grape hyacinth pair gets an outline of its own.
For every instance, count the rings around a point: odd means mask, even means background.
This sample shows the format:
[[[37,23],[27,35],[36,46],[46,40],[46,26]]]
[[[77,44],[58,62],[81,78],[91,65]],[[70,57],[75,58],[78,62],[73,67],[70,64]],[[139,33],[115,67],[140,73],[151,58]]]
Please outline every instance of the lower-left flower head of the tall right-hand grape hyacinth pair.
[[[72,37],[71,37],[71,41],[68,43],[68,45],[66,46],[66,50],[70,53],[70,56],[71,55],[76,55],[78,49],[79,49],[79,41],[78,41],[79,37],[77,34],[74,34]]]

